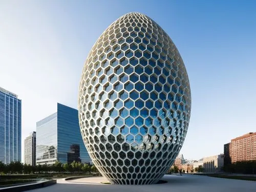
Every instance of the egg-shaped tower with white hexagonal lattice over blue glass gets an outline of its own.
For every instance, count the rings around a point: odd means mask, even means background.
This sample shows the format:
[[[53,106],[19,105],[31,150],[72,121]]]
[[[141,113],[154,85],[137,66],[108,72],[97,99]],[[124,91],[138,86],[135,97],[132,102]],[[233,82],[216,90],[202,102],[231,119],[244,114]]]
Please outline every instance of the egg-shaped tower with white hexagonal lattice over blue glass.
[[[78,98],[82,138],[112,184],[153,184],[186,136],[190,86],[170,37],[151,18],[128,13],[98,38]]]

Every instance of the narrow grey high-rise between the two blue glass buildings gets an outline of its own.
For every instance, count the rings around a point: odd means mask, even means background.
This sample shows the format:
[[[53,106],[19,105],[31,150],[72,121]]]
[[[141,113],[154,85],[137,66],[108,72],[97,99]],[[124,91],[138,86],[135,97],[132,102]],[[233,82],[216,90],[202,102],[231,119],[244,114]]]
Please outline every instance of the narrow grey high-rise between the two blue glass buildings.
[[[35,165],[36,158],[36,132],[30,133],[24,140],[24,163]]]

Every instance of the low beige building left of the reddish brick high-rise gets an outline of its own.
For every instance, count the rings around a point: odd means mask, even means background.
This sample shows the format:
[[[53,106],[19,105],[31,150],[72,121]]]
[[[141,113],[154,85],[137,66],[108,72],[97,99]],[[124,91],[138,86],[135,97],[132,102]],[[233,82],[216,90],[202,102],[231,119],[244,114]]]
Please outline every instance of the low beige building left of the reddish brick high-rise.
[[[205,173],[220,172],[223,166],[224,166],[224,154],[203,158],[203,168]]]

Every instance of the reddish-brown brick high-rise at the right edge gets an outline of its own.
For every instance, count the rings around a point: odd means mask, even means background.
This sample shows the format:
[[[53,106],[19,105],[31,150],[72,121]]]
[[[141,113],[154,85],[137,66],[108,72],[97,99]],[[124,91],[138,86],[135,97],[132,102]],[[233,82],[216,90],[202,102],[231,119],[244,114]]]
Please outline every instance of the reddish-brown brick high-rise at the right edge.
[[[224,145],[224,157],[231,163],[256,160],[256,132],[231,139]]]

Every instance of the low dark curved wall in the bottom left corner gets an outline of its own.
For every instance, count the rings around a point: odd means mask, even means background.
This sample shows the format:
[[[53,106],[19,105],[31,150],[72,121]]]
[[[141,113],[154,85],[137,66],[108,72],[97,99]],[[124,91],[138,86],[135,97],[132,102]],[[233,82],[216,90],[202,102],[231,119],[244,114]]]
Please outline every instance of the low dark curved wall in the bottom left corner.
[[[41,187],[47,187],[54,184],[56,184],[56,180],[49,180],[49,181],[44,181],[40,183],[0,188],[0,191],[1,192],[19,192],[19,191],[31,190],[31,189],[41,188]]]

